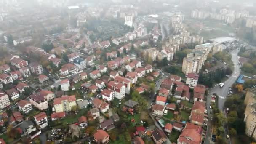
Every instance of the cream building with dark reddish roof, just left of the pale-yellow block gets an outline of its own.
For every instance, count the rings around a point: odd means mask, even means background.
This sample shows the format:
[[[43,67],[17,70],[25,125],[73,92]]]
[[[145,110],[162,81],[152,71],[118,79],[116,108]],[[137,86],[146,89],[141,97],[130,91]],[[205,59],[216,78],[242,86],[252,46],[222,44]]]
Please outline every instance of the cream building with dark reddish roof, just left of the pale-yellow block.
[[[38,93],[30,95],[29,101],[33,106],[37,107],[37,109],[39,109],[41,111],[48,109],[48,107],[49,107],[47,99]]]

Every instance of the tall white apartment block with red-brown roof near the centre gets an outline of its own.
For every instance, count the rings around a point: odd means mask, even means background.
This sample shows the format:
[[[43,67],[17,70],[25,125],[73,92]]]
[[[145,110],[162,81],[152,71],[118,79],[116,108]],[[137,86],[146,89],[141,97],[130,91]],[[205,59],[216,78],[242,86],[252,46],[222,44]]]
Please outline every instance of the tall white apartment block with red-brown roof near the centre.
[[[123,99],[125,97],[125,85],[122,83],[110,81],[108,89],[114,91],[115,98]]]

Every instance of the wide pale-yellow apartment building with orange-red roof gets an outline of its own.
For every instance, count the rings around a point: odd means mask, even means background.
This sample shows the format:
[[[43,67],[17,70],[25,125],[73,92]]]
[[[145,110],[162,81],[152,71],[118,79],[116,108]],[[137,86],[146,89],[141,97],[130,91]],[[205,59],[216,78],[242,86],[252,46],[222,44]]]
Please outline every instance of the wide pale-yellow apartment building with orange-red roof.
[[[76,97],[73,96],[62,96],[53,100],[55,112],[69,112],[73,106],[76,106]]]

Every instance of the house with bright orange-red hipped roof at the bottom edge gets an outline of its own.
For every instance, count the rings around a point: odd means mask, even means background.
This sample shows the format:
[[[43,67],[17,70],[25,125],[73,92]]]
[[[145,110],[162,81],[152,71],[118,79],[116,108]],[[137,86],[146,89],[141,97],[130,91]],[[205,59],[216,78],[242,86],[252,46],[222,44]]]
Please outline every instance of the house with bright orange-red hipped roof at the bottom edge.
[[[107,144],[109,143],[109,134],[104,130],[97,130],[93,134],[94,140],[97,144]]]

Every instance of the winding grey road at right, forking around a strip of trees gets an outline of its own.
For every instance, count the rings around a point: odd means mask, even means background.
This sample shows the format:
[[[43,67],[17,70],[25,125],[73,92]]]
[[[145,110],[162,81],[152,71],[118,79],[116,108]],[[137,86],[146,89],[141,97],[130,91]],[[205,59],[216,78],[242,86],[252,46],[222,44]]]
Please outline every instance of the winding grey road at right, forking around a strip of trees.
[[[238,58],[237,58],[237,53],[238,50],[234,50],[231,52],[232,54],[232,61],[234,63],[234,72],[232,75],[230,75],[230,77],[223,82],[224,86],[222,88],[219,88],[219,86],[217,85],[216,87],[212,88],[209,92],[209,96],[207,97],[207,111],[210,112],[211,109],[209,108],[211,105],[211,95],[213,93],[216,93],[219,96],[219,100],[218,100],[218,108],[224,112],[224,116],[227,117],[227,113],[225,111],[225,107],[224,107],[224,103],[225,103],[225,99],[228,96],[228,92],[229,92],[229,87],[232,86],[232,84],[235,83],[235,81],[237,80],[239,74],[240,74],[240,65],[238,65]],[[208,115],[209,120],[211,114],[209,113]],[[228,131],[228,126],[227,123],[224,123],[224,128],[225,128],[225,137],[226,135],[229,135],[229,131]],[[229,144],[231,144],[231,138],[227,139],[227,141],[229,141]],[[210,144],[211,143],[211,122],[208,123],[208,131],[206,133],[206,139],[205,139],[205,144]]]

